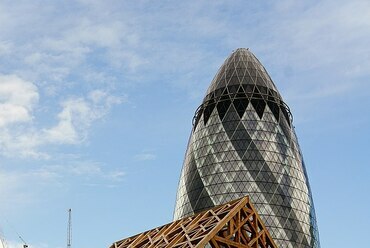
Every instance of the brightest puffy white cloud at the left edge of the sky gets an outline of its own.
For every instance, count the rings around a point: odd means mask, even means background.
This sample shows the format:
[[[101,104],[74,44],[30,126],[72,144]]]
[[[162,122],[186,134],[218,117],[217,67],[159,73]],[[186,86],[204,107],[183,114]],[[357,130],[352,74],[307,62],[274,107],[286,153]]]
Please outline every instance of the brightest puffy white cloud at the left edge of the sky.
[[[91,125],[110,109],[125,101],[104,90],[86,97],[70,97],[61,102],[54,126],[39,127],[33,122],[39,101],[38,88],[16,75],[0,75],[0,153],[7,157],[47,159],[40,151],[45,145],[79,144],[88,137]],[[37,122],[37,121],[36,121]]]

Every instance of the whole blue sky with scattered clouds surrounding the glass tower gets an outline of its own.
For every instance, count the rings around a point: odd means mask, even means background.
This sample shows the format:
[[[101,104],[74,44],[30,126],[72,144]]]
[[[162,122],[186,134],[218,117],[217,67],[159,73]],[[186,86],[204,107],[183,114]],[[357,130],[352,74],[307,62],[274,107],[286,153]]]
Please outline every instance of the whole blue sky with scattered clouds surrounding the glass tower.
[[[194,111],[249,47],[292,110],[322,247],[363,245],[369,13],[366,0],[1,1],[2,237],[66,247],[68,208],[73,247],[170,222]]]

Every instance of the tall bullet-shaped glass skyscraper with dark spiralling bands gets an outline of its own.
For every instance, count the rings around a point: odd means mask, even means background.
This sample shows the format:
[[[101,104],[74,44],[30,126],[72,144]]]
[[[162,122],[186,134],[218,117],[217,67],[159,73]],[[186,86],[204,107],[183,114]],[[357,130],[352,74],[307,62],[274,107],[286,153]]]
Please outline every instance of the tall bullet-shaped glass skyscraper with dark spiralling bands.
[[[320,247],[292,115],[259,60],[234,51],[196,111],[175,219],[249,195],[279,247]]]

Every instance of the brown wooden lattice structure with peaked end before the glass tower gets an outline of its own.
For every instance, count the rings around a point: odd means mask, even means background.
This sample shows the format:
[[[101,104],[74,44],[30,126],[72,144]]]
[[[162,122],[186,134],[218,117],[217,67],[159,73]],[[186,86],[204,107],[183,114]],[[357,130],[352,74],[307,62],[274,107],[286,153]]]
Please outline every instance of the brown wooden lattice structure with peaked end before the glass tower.
[[[117,241],[110,248],[277,248],[249,197]]]

